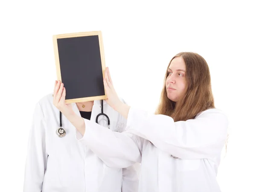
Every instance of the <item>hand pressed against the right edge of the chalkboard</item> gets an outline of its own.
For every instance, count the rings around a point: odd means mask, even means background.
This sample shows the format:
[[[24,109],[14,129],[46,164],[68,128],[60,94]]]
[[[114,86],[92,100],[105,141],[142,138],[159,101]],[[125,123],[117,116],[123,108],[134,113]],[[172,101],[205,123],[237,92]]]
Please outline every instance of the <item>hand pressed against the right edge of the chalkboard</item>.
[[[119,97],[116,94],[116,90],[113,87],[113,82],[108,67],[105,70],[105,78],[103,81],[106,90],[106,95],[108,96],[106,102],[108,103],[108,105],[110,105],[113,109],[116,110],[119,105],[122,105],[122,102],[120,101]]]

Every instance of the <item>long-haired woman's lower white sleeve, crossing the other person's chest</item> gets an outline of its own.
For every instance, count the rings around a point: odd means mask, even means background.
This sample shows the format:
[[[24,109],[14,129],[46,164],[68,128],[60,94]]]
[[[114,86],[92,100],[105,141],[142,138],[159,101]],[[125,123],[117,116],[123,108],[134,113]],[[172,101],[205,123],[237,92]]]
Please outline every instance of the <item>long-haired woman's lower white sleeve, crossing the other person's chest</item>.
[[[96,122],[84,119],[85,133],[76,139],[90,148],[107,166],[126,168],[141,162],[142,141],[140,137],[111,131]]]

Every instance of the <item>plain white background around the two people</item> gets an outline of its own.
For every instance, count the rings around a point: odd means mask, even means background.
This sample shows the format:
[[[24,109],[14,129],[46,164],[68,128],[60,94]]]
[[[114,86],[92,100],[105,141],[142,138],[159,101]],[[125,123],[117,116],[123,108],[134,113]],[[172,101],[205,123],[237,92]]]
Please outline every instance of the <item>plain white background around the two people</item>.
[[[52,35],[101,30],[117,93],[148,111],[175,54],[206,59],[215,105],[230,120],[219,185],[255,192],[256,11],[253,1],[239,2],[1,1],[0,191],[23,190],[32,112],[56,79]]]

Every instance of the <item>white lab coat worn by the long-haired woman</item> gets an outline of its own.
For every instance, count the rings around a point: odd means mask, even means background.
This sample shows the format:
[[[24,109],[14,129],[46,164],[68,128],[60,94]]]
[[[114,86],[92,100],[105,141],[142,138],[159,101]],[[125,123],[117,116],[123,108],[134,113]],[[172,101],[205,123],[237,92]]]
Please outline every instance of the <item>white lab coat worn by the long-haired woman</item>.
[[[116,133],[84,119],[79,141],[110,167],[141,162],[139,192],[220,192],[216,175],[228,127],[221,110],[174,122],[131,107],[127,120],[127,131]]]

